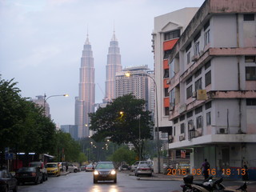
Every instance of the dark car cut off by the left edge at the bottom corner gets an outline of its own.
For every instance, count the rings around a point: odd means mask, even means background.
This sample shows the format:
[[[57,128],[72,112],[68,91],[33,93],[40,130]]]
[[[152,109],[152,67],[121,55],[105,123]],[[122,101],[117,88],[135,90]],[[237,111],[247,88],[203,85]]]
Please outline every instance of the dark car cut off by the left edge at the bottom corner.
[[[0,191],[12,190],[17,192],[18,182],[8,170],[0,170]]]

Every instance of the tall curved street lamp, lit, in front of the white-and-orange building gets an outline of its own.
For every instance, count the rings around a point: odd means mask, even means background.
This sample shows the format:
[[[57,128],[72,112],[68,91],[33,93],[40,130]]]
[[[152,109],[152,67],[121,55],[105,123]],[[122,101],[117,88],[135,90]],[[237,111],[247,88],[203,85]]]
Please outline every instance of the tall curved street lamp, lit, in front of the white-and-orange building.
[[[129,78],[130,77],[130,72],[126,72],[125,73],[126,77]],[[152,78],[150,76],[150,74],[136,74],[136,75],[140,75],[140,76],[147,76],[149,78],[151,78],[154,82],[154,86],[155,86],[155,114],[156,114],[156,122],[157,122],[157,154],[158,154],[158,174],[160,174],[160,144],[159,144],[159,127],[158,127],[158,87],[157,87],[157,83],[155,82],[154,78]]]

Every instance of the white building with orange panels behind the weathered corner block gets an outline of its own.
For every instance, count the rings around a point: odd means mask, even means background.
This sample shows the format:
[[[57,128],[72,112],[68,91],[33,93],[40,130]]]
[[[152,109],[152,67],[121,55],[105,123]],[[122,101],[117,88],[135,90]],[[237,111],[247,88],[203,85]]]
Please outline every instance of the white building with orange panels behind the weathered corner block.
[[[161,130],[160,136],[166,137],[167,132],[171,134],[172,123],[169,121],[169,79],[170,70],[168,56],[178,38],[186,29],[186,26],[197,12],[198,8],[184,8],[169,14],[163,14],[154,18],[154,31],[152,33],[154,52],[154,78],[158,90],[158,126]],[[154,115],[156,118],[157,116]],[[161,138],[162,138],[161,137]]]

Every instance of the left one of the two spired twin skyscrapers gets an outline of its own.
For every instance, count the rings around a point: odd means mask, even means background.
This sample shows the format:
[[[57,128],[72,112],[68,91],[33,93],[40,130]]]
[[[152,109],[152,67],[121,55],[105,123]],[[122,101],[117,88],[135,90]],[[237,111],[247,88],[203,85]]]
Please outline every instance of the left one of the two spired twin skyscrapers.
[[[94,83],[94,58],[88,34],[82,50],[79,96],[75,98],[75,120],[78,126],[78,138],[89,136],[90,119],[88,114],[94,112],[95,83]]]

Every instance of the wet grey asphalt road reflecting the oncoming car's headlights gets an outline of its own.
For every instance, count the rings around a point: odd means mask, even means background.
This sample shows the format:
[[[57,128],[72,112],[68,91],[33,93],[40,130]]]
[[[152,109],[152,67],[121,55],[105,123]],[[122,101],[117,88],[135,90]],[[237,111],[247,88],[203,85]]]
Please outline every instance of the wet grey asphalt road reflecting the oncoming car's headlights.
[[[92,172],[70,173],[60,177],[50,177],[42,184],[18,186],[19,192],[171,192],[181,191],[181,181],[137,180],[127,173],[118,173],[118,182],[93,183]]]

